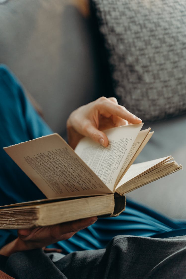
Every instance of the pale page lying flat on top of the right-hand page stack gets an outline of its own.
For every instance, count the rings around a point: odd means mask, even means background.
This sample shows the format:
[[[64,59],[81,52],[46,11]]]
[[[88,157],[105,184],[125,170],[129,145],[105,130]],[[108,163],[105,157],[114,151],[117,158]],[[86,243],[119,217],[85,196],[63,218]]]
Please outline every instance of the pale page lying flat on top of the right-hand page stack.
[[[137,178],[140,175],[143,175],[144,173],[149,172],[150,170],[154,169],[158,165],[161,165],[161,163],[167,162],[171,160],[171,156],[143,162],[143,163],[137,163],[133,164],[129,170],[126,172],[126,174],[122,177],[120,182],[118,183],[116,189],[118,189],[120,186],[125,184],[126,182],[131,181],[134,178]]]

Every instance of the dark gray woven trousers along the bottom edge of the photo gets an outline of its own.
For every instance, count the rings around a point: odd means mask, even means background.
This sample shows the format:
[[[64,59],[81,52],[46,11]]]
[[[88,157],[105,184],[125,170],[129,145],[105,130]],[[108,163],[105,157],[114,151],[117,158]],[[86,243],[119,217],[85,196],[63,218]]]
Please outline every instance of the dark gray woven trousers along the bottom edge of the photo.
[[[114,237],[105,249],[57,259],[41,249],[12,254],[5,271],[18,279],[186,278],[186,236],[157,239]],[[53,259],[53,260],[52,260]]]

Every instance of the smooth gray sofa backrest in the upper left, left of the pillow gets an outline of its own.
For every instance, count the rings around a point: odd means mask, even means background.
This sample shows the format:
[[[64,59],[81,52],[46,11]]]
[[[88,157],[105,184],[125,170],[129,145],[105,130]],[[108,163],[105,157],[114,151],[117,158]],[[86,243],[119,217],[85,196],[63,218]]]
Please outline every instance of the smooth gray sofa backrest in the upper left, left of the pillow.
[[[15,73],[43,108],[49,126],[61,135],[71,111],[96,94],[89,19],[67,2],[0,4],[0,63]]]

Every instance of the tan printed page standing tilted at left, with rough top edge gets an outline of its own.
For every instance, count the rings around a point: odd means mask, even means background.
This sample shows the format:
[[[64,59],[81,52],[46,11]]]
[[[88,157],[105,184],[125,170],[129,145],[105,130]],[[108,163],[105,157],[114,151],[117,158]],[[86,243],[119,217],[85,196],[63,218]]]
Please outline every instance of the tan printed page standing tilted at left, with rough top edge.
[[[47,198],[112,193],[58,134],[4,150]]]

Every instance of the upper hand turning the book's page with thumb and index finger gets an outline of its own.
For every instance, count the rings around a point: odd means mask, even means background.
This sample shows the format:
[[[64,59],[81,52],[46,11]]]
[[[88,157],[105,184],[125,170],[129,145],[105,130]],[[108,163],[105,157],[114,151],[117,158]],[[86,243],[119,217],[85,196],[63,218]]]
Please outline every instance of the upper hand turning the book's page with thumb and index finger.
[[[108,138],[103,130],[131,124],[142,120],[118,105],[116,98],[101,97],[94,102],[74,110],[67,120],[69,145],[74,149],[83,136],[108,146]]]

